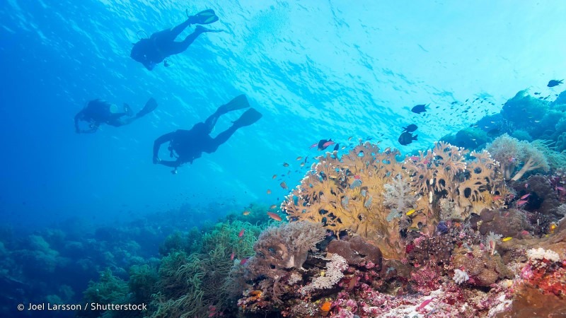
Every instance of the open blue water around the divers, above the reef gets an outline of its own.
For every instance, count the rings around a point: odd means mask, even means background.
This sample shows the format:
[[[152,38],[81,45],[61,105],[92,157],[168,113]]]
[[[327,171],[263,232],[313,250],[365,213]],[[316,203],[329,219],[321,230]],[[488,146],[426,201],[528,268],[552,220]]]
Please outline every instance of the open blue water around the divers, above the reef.
[[[139,30],[171,28],[185,9],[206,8],[220,17],[211,28],[225,33],[200,36],[168,68],[147,71],[129,58]],[[215,220],[282,201],[279,182],[297,184],[308,165],[296,158],[320,155],[309,148],[319,139],[429,148],[499,112],[518,90],[559,92],[546,83],[566,73],[564,16],[564,1],[3,1],[1,224],[112,225],[185,204]],[[259,122],[178,175],[151,163],[154,139],[241,93]],[[149,97],[158,109],[129,126],[74,133],[88,100],[137,112]],[[424,115],[410,112],[429,103]],[[221,117],[214,134],[239,114]],[[419,140],[401,146],[407,124],[419,126]],[[188,227],[195,216],[178,222]]]

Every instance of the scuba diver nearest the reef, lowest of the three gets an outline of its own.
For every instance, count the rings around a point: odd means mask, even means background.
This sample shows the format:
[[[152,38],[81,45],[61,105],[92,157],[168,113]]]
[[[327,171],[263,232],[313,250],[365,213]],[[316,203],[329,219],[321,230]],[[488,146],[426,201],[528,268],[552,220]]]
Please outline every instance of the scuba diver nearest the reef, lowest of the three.
[[[238,95],[225,105],[218,107],[214,114],[210,115],[204,122],[199,122],[192,126],[190,130],[179,129],[169,134],[165,134],[154,142],[154,163],[173,167],[171,173],[176,174],[177,168],[183,163],[191,163],[200,158],[203,152],[214,153],[218,146],[225,143],[230,136],[243,126],[249,126],[257,122],[262,114],[253,108],[246,110],[240,118],[232,122],[232,126],[226,131],[221,132],[216,138],[212,138],[209,134],[214,129],[216,121],[222,114],[231,112],[232,110],[241,110],[250,107],[246,95]],[[161,144],[169,142],[169,155],[176,160],[161,160],[158,157]]]

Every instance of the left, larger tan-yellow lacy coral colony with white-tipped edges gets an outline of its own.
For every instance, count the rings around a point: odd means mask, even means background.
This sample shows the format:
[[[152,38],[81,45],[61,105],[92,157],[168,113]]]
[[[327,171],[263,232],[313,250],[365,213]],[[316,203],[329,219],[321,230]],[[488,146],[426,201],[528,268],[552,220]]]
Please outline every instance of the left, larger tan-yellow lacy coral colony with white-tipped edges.
[[[327,153],[282,204],[288,218],[322,223],[335,233],[354,232],[371,238],[386,257],[400,257],[404,247],[397,221],[388,222],[385,184],[403,175],[395,156],[377,145],[360,143],[338,160]],[[401,258],[401,257],[400,257]]]

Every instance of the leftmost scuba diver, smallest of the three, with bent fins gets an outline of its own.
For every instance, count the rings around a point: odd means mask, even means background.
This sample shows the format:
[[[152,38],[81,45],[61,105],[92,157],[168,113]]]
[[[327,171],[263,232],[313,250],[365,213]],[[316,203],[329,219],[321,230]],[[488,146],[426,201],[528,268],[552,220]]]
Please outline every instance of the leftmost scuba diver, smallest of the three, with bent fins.
[[[124,103],[124,112],[118,112],[118,106],[115,104],[105,100],[91,100],[83,110],[75,115],[75,131],[77,134],[93,133],[96,132],[100,124],[109,124],[115,127],[124,126],[153,112],[156,108],[156,100],[149,98],[144,108],[134,116],[132,108],[126,103]],[[128,116],[129,118],[122,119],[124,116]],[[79,121],[88,122],[88,129],[81,129]]]

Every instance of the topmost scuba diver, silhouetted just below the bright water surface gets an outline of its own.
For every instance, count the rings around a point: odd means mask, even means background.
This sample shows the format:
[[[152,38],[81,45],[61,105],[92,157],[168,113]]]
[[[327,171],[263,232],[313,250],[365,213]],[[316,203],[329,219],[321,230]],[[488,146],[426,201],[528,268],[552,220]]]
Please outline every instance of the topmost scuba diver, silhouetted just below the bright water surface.
[[[134,43],[129,56],[144,64],[149,71],[162,61],[163,65],[169,66],[170,64],[166,58],[184,52],[201,33],[222,32],[222,30],[209,30],[201,25],[197,25],[195,32],[187,35],[183,42],[175,42],[175,37],[178,37],[191,24],[210,24],[217,20],[218,17],[212,9],[199,12],[195,16],[189,16],[185,22],[177,25],[175,28],[154,33],[149,38],[141,39]]]

